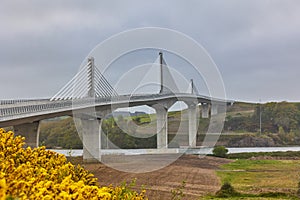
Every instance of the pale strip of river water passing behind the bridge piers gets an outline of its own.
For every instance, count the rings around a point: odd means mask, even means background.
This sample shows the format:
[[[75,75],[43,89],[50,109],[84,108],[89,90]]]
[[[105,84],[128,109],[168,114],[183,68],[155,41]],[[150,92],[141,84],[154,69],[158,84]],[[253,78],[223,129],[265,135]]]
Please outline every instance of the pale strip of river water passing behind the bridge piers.
[[[298,147],[239,147],[227,148],[228,153],[246,153],[246,152],[276,152],[276,151],[300,151]],[[82,149],[51,149],[57,153],[65,156],[82,156]],[[168,149],[170,153],[187,153],[187,154],[211,154],[213,148],[199,149]],[[103,154],[124,154],[124,155],[139,155],[146,153],[153,153],[155,149],[102,149]]]

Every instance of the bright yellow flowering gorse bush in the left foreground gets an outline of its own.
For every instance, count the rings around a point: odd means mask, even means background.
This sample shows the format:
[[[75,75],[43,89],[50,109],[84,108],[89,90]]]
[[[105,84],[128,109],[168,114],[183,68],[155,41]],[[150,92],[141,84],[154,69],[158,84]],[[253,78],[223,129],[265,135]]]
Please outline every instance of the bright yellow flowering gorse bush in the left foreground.
[[[25,138],[0,128],[0,200],[147,199],[126,185],[99,187],[93,174],[45,147],[22,148]]]

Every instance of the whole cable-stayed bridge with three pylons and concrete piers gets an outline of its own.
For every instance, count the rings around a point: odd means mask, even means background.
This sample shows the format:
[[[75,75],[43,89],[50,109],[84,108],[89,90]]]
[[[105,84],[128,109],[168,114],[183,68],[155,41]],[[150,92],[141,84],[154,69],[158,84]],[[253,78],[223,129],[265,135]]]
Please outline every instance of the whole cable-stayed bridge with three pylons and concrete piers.
[[[101,119],[116,108],[147,105],[156,111],[157,148],[167,148],[168,109],[177,101],[188,106],[189,146],[196,147],[199,106],[203,118],[225,113],[227,102],[198,94],[193,81],[190,91],[179,92],[162,53],[159,54],[160,90],[155,94],[119,95],[89,58],[85,66],[52,98],[35,100],[1,100],[0,127],[14,126],[17,134],[26,137],[29,146],[37,146],[39,122],[44,119],[73,116],[84,127],[82,139],[86,160],[95,157],[101,149],[99,132]],[[92,112],[90,112],[90,110]],[[100,126],[99,126],[100,124]],[[94,130],[97,126],[99,129]],[[99,131],[100,130],[100,131]]]

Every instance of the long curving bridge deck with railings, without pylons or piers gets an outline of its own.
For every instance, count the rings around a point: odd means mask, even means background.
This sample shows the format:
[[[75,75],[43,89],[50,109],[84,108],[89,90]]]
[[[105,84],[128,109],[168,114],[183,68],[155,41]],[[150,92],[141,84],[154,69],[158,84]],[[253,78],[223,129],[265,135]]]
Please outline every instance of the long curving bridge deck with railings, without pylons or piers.
[[[43,119],[49,116],[72,115],[72,110],[90,107],[108,107],[111,105],[120,107],[153,105],[164,100],[196,101],[197,103],[228,104],[229,101],[212,99],[210,97],[178,93],[178,94],[143,94],[143,95],[119,95],[107,98],[84,98],[73,100],[37,99],[37,100],[4,100],[0,104],[0,125],[7,125],[14,120],[39,117]]]

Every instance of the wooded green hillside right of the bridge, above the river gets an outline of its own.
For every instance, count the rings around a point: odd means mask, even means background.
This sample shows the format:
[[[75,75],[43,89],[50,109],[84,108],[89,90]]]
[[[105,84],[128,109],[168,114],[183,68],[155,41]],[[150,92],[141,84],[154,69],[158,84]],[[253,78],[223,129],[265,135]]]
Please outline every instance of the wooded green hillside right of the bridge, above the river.
[[[225,131],[300,134],[300,103],[270,102],[246,104],[237,102],[228,108]]]

